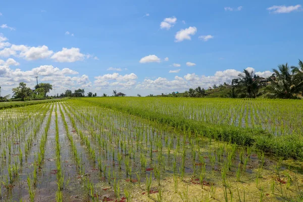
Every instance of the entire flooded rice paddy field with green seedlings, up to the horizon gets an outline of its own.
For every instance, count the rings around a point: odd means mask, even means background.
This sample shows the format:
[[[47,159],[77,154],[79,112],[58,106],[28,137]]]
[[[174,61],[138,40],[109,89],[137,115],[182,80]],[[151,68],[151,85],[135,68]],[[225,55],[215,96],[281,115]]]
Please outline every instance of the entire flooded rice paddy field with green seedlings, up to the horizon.
[[[0,110],[0,200],[303,201],[302,104],[95,97]]]

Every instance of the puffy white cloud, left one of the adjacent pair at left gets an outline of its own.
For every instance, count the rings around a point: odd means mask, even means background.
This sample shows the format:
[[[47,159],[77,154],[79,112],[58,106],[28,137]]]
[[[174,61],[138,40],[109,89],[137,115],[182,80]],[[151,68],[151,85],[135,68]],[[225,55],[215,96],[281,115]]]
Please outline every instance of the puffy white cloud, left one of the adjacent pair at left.
[[[26,60],[38,60],[48,58],[53,54],[53,51],[49,51],[46,45],[38,47],[30,47],[25,52],[20,53],[20,57]]]

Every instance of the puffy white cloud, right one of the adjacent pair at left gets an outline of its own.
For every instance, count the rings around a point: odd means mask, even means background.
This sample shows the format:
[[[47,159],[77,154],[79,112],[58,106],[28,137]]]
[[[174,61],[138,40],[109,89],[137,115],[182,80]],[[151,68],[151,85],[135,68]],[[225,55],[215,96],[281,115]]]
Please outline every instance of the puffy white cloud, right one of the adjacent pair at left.
[[[70,49],[64,47],[62,51],[55,53],[51,59],[60,63],[73,63],[76,61],[84,60],[85,55],[80,53],[80,49],[76,47],[72,47]]]

